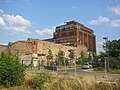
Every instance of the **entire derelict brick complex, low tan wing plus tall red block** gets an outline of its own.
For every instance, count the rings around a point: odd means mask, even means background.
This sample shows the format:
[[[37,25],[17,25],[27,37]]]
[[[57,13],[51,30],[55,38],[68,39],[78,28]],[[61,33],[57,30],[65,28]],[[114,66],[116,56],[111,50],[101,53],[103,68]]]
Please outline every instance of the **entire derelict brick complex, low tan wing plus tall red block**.
[[[96,38],[93,30],[76,21],[70,21],[66,22],[65,25],[57,26],[52,39],[42,41],[28,38],[25,41],[0,45],[0,53],[17,53],[20,60],[24,60],[24,63],[27,64],[33,62],[34,66],[38,65],[38,63],[47,63],[46,55],[49,49],[53,53],[54,60],[59,50],[64,51],[67,58],[70,49],[75,51],[76,57],[80,55],[82,50],[87,55],[87,51],[95,52]]]

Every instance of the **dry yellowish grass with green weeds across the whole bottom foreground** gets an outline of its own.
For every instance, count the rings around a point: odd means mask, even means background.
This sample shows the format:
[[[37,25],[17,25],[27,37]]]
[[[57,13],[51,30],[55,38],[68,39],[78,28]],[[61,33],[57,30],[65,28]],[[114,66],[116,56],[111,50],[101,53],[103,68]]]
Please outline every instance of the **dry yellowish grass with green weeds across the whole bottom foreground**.
[[[95,77],[55,72],[27,72],[22,86],[0,90],[120,90],[120,78],[100,80]]]

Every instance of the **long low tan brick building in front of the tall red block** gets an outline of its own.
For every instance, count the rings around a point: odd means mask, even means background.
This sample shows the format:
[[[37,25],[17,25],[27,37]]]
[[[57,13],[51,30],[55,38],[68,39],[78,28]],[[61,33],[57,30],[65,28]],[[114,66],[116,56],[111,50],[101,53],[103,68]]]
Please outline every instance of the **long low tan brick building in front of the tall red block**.
[[[68,58],[70,52],[68,50],[72,49],[75,51],[75,56],[80,55],[81,50],[84,49],[84,52],[87,54],[87,49],[82,47],[71,47],[61,44],[54,44],[51,42],[41,41],[38,39],[28,38],[25,41],[16,41],[13,43],[8,43],[8,45],[0,45],[1,52],[14,53],[19,56],[20,61],[23,60],[23,63],[26,65],[33,64],[37,66],[39,64],[46,65],[49,49],[51,49],[53,58],[55,60],[56,54],[59,50],[65,52],[65,57]]]

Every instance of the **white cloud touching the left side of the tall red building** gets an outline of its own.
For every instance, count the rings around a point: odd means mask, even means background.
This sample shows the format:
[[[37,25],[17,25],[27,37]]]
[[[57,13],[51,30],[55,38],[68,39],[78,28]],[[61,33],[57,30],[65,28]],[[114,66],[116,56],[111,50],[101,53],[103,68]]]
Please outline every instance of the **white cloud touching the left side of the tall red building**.
[[[52,34],[54,32],[54,28],[52,28],[52,29],[45,28],[42,30],[35,30],[35,32],[36,32],[36,34],[38,34],[40,36],[47,36],[47,35],[52,36]]]

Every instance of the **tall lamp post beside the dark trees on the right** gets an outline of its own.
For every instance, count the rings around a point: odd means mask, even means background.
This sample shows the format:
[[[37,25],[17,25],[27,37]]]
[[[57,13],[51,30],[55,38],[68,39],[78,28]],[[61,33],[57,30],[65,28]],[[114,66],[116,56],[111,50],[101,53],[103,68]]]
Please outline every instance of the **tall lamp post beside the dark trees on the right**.
[[[107,56],[106,57],[107,70],[109,70],[109,41],[108,41],[108,37],[104,37],[103,39],[105,40],[103,48],[104,48],[104,50],[106,52],[106,56]]]

